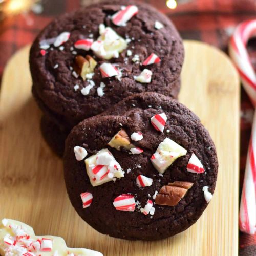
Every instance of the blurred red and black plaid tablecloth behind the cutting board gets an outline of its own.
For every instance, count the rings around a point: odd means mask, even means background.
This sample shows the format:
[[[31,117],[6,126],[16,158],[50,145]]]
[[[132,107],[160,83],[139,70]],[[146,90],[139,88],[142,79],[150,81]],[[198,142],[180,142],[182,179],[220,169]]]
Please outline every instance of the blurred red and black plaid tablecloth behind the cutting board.
[[[20,0],[24,1],[24,0]],[[30,44],[36,34],[53,17],[97,0],[42,0],[42,13],[32,11],[7,18],[0,23],[0,79],[6,62],[19,48]],[[165,0],[145,0],[170,17],[183,39],[195,39],[227,50],[234,27],[243,20],[256,17],[256,0],[178,0],[170,10]],[[256,39],[248,45],[251,62],[256,69]],[[242,89],[241,93],[241,150],[240,184],[242,186],[247,147],[253,118],[253,107]],[[240,255],[256,255],[256,235],[240,233]],[[208,256],[208,255],[207,255]],[[211,255],[209,255],[211,256]]]

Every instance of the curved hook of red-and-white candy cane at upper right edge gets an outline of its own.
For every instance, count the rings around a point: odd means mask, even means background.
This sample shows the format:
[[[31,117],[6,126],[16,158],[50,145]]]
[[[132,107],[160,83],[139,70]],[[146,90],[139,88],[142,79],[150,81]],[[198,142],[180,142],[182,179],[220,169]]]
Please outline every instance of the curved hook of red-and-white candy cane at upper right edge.
[[[229,55],[237,67],[244,89],[255,107],[256,74],[246,50],[246,44],[253,35],[256,35],[256,19],[239,24],[230,40]]]

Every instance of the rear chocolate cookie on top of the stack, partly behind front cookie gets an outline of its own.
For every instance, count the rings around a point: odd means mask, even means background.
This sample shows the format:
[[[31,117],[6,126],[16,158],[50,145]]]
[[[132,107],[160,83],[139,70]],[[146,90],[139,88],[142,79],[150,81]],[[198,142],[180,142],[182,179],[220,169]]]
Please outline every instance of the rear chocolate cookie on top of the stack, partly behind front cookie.
[[[62,15],[37,36],[30,51],[33,94],[47,115],[71,129],[134,93],[177,97],[183,55],[176,28],[153,7],[95,4]]]

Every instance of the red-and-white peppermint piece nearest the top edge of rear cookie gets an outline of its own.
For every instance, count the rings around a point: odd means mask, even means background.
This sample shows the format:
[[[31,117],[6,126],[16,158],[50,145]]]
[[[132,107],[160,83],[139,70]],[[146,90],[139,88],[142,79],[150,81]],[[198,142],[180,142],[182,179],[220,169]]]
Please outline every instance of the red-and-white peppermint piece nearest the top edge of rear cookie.
[[[138,7],[136,5],[126,6],[123,10],[115,13],[111,19],[117,26],[126,26],[126,22],[130,20],[134,15],[138,13]]]

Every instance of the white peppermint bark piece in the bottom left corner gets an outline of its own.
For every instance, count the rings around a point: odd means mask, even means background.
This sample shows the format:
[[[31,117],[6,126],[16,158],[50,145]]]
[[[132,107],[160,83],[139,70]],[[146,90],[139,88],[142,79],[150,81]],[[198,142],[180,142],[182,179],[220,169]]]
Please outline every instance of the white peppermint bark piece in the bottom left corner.
[[[25,234],[24,238],[16,239],[19,234]],[[8,240],[7,240],[8,238]],[[4,241],[14,242],[16,244],[7,244]],[[41,241],[41,245],[39,241]],[[49,250],[44,251],[44,248]],[[7,256],[103,256],[98,251],[85,248],[68,248],[63,238],[54,236],[36,236],[32,227],[25,223],[3,219],[0,224],[0,254]]]

